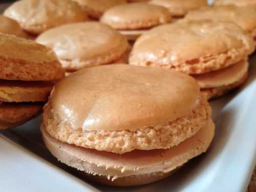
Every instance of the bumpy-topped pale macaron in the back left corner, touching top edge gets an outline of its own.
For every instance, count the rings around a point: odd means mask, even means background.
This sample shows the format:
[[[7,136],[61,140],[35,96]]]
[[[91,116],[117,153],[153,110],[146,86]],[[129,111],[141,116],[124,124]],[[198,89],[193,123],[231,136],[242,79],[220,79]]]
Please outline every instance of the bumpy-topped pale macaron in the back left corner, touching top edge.
[[[26,32],[33,35],[87,19],[87,14],[72,0],[21,0],[8,7],[4,15],[16,20]]]

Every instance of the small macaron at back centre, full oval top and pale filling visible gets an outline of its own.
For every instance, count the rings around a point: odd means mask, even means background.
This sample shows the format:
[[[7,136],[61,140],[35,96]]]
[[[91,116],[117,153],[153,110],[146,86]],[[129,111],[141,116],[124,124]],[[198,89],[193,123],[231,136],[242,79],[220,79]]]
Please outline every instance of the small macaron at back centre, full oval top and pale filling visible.
[[[115,6],[106,11],[100,19],[101,23],[118,30],[128,40],[136,40],[148,29],[171,21],[172,16],[166,8],[146,3]]]

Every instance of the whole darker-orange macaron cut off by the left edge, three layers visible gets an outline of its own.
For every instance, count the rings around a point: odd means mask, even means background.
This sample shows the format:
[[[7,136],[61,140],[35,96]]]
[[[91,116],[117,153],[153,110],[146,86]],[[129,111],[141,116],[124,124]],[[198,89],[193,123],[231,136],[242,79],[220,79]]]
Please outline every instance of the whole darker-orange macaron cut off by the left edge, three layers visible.
[[[0,129],[7,129],[37,116],[65,74],[48,47],[4,33],[0,46]]]

